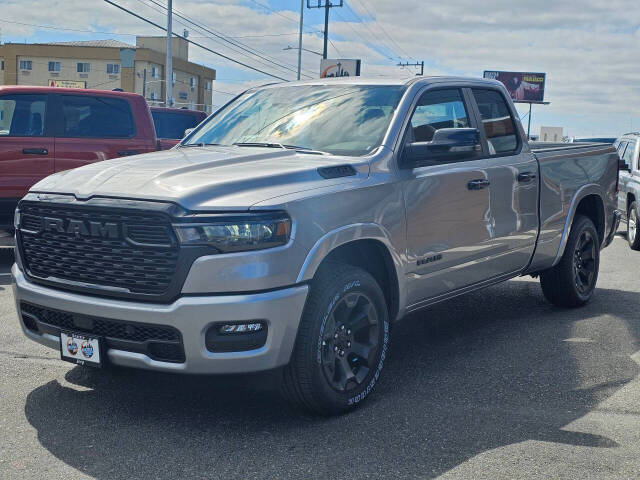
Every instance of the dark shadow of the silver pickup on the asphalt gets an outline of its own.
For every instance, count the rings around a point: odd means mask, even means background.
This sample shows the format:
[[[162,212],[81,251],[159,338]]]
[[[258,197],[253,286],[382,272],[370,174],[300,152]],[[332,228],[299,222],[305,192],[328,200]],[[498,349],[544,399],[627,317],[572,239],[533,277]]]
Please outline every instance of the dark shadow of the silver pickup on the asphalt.
[[[430,307],[395,327],[376,392],[337,418],[288,408],[270,375],[79,367],[25,414],[53,455],[109,480],[433,478],[526,440],[615,448],[564,428],[638,375],[637,295],[561,310],[518,280]]]

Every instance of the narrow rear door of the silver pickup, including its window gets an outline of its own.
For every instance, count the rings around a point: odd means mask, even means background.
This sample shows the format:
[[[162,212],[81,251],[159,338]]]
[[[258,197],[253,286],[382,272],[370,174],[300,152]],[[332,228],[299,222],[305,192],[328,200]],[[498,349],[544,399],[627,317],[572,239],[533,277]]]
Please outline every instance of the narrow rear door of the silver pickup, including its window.
[[[493,275],[523,269],[538,234],[538,162],[524,148],[522,130],[504,93],[471,89],[489,172],[489,236]]]

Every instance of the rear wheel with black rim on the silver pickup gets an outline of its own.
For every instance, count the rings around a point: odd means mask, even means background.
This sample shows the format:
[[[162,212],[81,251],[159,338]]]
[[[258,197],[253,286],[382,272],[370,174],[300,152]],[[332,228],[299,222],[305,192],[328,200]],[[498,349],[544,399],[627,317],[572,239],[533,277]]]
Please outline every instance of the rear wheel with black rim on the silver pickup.
[[[576,215],[560,262],[540,274],[545,298],[559,307],[586,304],[595,290],[600,269],[600,240],[588,217]]]

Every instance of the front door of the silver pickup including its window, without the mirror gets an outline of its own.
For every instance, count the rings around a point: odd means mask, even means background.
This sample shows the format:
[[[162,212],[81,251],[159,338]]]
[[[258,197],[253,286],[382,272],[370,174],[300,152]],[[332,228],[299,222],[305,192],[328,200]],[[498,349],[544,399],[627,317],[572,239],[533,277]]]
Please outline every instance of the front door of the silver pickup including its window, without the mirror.
[[[405,142],[428,142],[441,128],[468,128],[460,89],[428,90],[419,98]],[[487,161],[480,152],[401,170],[407,212],[408,304],[486,279],[490,232]]]

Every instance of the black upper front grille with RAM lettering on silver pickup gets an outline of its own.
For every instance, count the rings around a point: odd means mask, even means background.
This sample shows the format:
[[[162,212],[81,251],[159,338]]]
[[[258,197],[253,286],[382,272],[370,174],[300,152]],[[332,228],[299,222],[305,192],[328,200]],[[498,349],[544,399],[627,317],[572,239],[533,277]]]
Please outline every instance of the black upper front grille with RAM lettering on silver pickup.
[[[216,253],[180,247],[172,204],[47,195],[20,202],[17,245],[35,282],[101,297],[171,303],[193,261]],[[76,228],[73,228],[74,223]],[[78,233],[78,230],[80,232]]]

